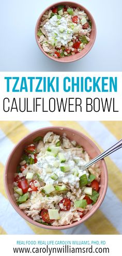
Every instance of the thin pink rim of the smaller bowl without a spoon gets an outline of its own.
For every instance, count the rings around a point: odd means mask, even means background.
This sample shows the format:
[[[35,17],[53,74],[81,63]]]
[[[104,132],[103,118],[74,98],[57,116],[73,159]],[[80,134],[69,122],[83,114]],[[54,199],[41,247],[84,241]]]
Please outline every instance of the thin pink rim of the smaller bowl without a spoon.
[[[88,14],[90,14],[90,16],[91,16],[91,18],[92,18],[92,20],[93,20],[93,23],[94,23],[94,33],[95,33],[94,38],[93,38],[93,42],[91,43],[91,45],[90,45],[90,47],[88,48],[88,50],[83,53],[82,56],[79,56],[79,57],[77,57],[76,59],[73,59],[73,60],[66,59],[66,61],[65,61],[65,59],[64,59],[65,57],[63,57],[63,58],[53,58],[53,57],[50,56],[48,53],[44,52],[44,50],[42,49],[42,47],[40,46],[40,44],[39,44],[39,42],[38,42],[38,37],[37,37],[37,28],[38,28],[38,24],[39,24],[39,22],[40,22],[40,19],[41,19],[42,15],[45,13],[45,11],[47,11],[48,9],[50,9],[50,8],[53,7],[53,6],[60,5],[60,4],[63,4],[63,3],[66,3],[66,4],[69,3],[69,4],[72,4],[72,5],[78,4],[80,7],[82,7],[83,9],[85,9],[86,12],[87,12]],[[42,51],[42,53],[43,53],[45,56],[47,56],[48,58],[52,59],[52,61],[54,61],[54,62],[56,61],[56,62],[58,62],[58,63],[71,63],[71,62],[79,61],[79,59],[83,58],[83,57],[91,50],[91,48],[93,48],[94,43],[95,43],[95,40],[96,40],[96,36],[97,36],[97,27],[96,27],[96,23],[95,23],[95,19],[94,19],[93,15],[92,15],[92,14],[90,13],[90,11],[89,11],[87,8],[85,8],[83,5],[81,5],[81,4],[77,3],[77,2],[72,2],[72,1],[69,1],[69,2],[67,2],[67,1],[59,1],[59,2],[56,2],[56,3],[54,3],[54,4],[51,4],[51,5],[50,5],[49,7],[47,7],[47,8],[45,8],[45,9],[42,11],[42,13],[40,14],[40,16],[39,16],[39,18],[38,18],[38,20],[37,20],[37,22],[36,22],[36,27],[35,27],[35,38],[36,38],[36,42],[37,42],[37,45],[38,45],[39,49]],[[78,54],[78,55],[79,55],[79,54]]]

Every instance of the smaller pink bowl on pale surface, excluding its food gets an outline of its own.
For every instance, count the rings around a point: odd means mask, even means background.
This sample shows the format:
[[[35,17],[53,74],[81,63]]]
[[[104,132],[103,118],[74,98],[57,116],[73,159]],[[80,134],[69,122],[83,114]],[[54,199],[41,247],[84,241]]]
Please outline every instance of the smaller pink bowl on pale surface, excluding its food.
[[[46,52],[43,51],[40,43],[38,42],[37,32],[38,32],[38,29],[39,29],[39,26],[40,26],[41,18],[43,16],[43,14],[45,13],[45,11],[47,11],[47,10],[57,6],[57,5],[62,5],[62,4],[70,5],[70,6],[74,6],[74,7],[80,7],[82,10],[84,10],[87,13],[87,15],[88,15],[88,17],[89,17],[89,19],[92,23],[92,30],[91,30],[91,33],[90,33],[90,42],[87,44],[87,46],[80,53],[77,53],[77,54],[71,55],[71,56],[67,56],[67,57],[55,58],[55,57],[49,56]],[[95,43],[95,39],[96,39],[96,33],[97,33],[96,24],[95,24],[95,20],[94,20],[93,16],[91,15],[91,13],[85,7],[83,7],[80,4],[77,4],[75,2],[64,2],[64,1],[63,2],[57,2],[53,5],[50,5],[48,8],[46,8],[41,13],[41,15],[39,16],[38,21],[36,23],[36,28],[35,28],[35,37],[36,37],[36,41],[37,41],[37,44],[38,44],[38,47],[40,48],[40,50],[45,54],[45,56],[53,59],[53,61],[62,62],[62,63],[74,62],[74,61],[78,61],[78,59],[80,59],[80,58],[83,58],[93,47],[93,45]]]

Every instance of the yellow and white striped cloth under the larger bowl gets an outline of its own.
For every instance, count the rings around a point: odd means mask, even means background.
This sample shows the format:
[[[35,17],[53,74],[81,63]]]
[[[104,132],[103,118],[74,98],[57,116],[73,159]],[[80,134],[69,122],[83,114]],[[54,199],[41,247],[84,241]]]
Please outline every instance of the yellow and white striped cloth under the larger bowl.
[[[46,126],[67,126],[86,134],[101,151],[121,139],[122,122],[0,122],[0,234],[122,234],[122,150],[106,158],[109,187],[97,212],[78,227],[50,231],[26,222],[10,205],[3,182],[6,159],[20,139],[30,131]]]

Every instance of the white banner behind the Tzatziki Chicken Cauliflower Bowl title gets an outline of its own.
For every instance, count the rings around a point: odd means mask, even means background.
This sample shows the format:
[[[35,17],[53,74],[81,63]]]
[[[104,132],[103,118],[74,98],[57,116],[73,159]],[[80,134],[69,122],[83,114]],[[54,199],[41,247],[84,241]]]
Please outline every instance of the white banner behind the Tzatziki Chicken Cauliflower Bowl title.
[[[6,92],[6,80],[4,79],[4,77],[20,77],[18,85],[16,87],[16,89],[20,90],[20,84],[21,84],[21,79],[22,77],[59,77],[59,92],[58,93],[52,93],[52,91],[48,92],[47,91],[44,93],[43,92],[43,80],[42,83],[40,84],[40,89],[42,89],[42,92],[35,92],[36,86],[38,84],[38,81],[35,80],[35,82],[33,82],[34,87],[33,87],[33,93],[29,92],[29,83],[27,82],[28,85],[28,92],[12,92],[12,87],[14,85],[15,80],[10,80],[12,82],[10,82],[10,92]],[[65,93],[63,90],[63,80],[64,77],[67,76],[67,72],[1,72],[0,74],[0,84],[2,84],[1,90],[0,90],[0,95],[1,95],[1,102],[0,102],[0,114],[1,117],[0,119],[2,121],[19,121],[19,120],[23,120],[23,121],[29,121],[29,120],[38,120],[38,121],[47,121],[47,120],[56,120],[56,121],[70,121],[70,120],[74,120],[74,121],[97,121],[99,119],[99,121],[104,120],[104,121],[119,121],[120,117],[122,116],[122,108],[121,108],[121,95],[122,95],[122,87],[121,87],[121,72],[83,72],[82,76],[83,77],[117,77],[117,92],[90,92],[90,93],[80,93],[80,92],[69,92],[69,93]],[[68,77],[80,77],[79,72],[69,72],[68,73]],[[101,80],[100,80],[101,81]],[[11,86],[12,85],[12,86]],[[55,85],[55,83],[54,83]],[[69,83],[70,85],[70,83]],[[91,83],[92,85],[92,83]],[[101,85],[101,82],[99,83],[99,86]],[[101,88],[101,87],[100,87]],[[108,80],[108,86],[105,87],[105,89],[109,89],[109,80]],[[19,111],[19,98],[21,98],[21,102],[23,98],[28,98],[28,106],[29,106],[29,110],[32,110],[32,106],[34,105],[34,98],[44,98],[44,110],[47,110],[48,112],[43,112],[42,111],[42,100],[38,101],[38,103],[41,104],[41,106],[38,108],[37,112],[20,112]],[[9,98],[10,103],[8,103],[8,100],[5,101],[5,110],[7,111],[8,107],[11,108],[12,106],[12,100],[13,98],[16,98],[17,101],[17,107],[18,107],[18,112],[16,110],[12,110],[12,112],[4,112],[3,110],[3,99],[4,98]],[[75,108],[73,106],[71,106],[70,108],[70,112],[69,112],[69,104],[67,103],[67,108],[66,111],[64,112],[63,108],[61,109],[60,112],[58,112],[58,107],[57,107],[57,103],[55,103],[55,108],[54,108],[54,100],[51,100],[51,111],[55,109],[54,112],[50,112],[49,111],[49,100],[50,98],[58,98],[58,101],[60,102],[61,98],[63,98],[64,102],[66,101],[66,98],[81,98],[82,99],[82,112],[81,109],[78,107],[77,110],[75,110]],[[98,111],[98,100],[95,100],[95,111],[93,110],[92,112],[87,112],[86,111],[86,98],[99,98],[100,99],[100,111]],[[109,102],[111,98],[115,98],[115,110],[118,112],[113,112],[113,104],[111,105],[111,111],[108,112],[105,109],[105,112],[103,111],[102,108],[102,103],[101,103],[101,98],[104,102],[105,98],[108,98]],[[56,101],[56,100],[55,100]],[[57,101],[56,101],[57,102]],[[75,100],[71,100],[70,104],[74,104]],[[78,101],[79,103],[79,101]],[[21,103],[22,106],[24,107],[24,103]],[[60,104],[60,103],[59,103]],[[65,104],[65,103],[64,103]],[[74,104],[75,106],[75,104]],[[14,106],[15,107],[15,104]],[[71,110],[73,110],[74,112],[71,112]],[[88,108],[89,110],[89,108]]]

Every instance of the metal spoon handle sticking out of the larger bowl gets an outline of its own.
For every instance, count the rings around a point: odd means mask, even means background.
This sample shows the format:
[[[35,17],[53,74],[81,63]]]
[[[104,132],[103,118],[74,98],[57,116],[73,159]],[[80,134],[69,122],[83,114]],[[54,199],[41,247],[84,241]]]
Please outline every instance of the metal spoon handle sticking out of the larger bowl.
[[[121,147],[122,147],[122,139],[118,141],[115,145],[113,145],[112,147],[110,147],[109,149],[101,153],[99,156],[97,156],[96,158],[92,159],[91,161],[83,165],[83,169],[86,169],[89,166],[93,165],[94,163],[98,162],[99,160],[103,159],[104,157],[109,156],[110,154],[112,154],[113,152],[115,152]]]

